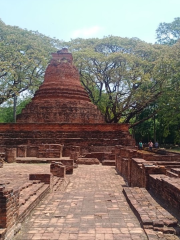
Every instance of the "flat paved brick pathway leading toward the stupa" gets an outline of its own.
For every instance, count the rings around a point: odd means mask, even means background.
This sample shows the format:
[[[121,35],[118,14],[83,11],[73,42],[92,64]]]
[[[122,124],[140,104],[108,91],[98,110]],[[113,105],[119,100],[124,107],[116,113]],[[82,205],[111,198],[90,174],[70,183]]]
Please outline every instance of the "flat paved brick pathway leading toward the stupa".
[[[122,193],[114,167],[79,165],[65,192],[50,193],[14,240],[147,239]]]

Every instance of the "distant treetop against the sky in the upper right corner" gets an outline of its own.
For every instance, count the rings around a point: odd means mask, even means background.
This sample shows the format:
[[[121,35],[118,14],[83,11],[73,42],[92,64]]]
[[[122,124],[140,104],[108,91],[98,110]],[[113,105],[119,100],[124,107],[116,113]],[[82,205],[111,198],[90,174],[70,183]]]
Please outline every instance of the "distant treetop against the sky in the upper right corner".
[[[159,44],[173,45],[180,38],[180,18],[172,23],[160,23],[156,30],[156,39]]]

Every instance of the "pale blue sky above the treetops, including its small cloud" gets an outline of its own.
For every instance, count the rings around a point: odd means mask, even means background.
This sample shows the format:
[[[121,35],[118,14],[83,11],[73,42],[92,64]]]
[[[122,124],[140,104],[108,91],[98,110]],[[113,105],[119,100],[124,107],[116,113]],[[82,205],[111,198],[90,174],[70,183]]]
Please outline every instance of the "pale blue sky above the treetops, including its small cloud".
[[[180,0],[0,0],[0,18],[60,40],[113,35],[154,43],[161,22],[180,17]]]

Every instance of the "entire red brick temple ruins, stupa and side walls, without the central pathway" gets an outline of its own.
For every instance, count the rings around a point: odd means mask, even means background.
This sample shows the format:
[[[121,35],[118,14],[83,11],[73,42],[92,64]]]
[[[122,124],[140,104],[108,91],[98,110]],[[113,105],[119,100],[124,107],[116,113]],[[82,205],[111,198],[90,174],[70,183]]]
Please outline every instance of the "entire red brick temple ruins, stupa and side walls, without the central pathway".
[[[115,168],[123,177],[121,192],[146,238],[119,239],[179,239],[180,154],[138,150],[128,124],[105,123],[63,48],[52,54],[17,123],[0,124],[0,240],[18,236],[33,209],[65,191],[81,164]]]

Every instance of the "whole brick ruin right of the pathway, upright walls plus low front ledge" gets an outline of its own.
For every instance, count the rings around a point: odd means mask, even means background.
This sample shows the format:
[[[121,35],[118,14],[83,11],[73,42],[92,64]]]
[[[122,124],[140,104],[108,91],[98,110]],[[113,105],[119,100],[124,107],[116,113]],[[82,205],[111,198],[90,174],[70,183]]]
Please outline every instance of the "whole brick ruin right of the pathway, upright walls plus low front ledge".
[[[116,169],[127,182],[124,194],[147,236],[158,239],[158,231],[180,235],[177,219],[154,200],[160,200],[167,209],[179,212],[180,154],[159,155],[116,146],[115,158]]]

